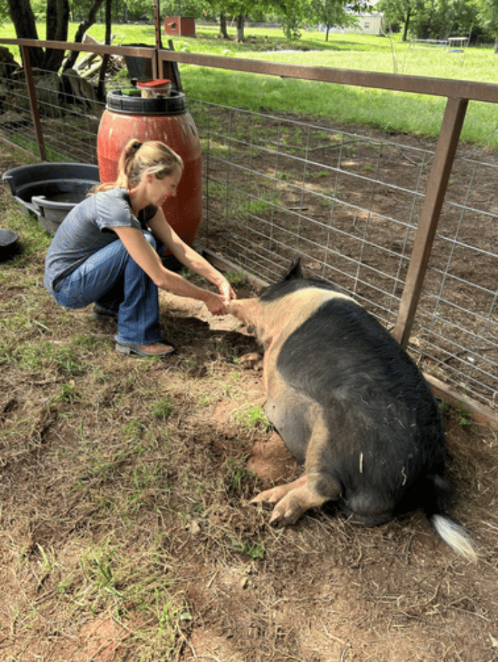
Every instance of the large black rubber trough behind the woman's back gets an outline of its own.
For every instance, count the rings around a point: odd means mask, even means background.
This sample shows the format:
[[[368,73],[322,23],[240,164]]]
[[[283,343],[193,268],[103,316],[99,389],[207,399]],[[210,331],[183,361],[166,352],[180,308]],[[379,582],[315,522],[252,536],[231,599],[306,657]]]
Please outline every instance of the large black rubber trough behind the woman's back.
[[[53,235],[67,213],[100,182],[98,165],[91,163],[35,163],[4,172],[1,177],[27,213],[37,216]]]

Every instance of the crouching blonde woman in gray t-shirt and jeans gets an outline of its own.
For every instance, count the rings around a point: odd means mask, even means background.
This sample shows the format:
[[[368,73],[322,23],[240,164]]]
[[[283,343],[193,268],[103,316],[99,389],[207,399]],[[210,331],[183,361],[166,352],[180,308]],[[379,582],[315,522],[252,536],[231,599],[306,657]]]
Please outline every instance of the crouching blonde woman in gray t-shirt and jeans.
[[[94,187],[64,218],[45,259],[45,287],[66,308],[95,303],[93,319],[117,319],[116,351],[166,356],[158,289],[204,301],[214,315],[236,297],[228,280],[168,225],[161,205],[175,196],[183,160],[164,143],[133,138],[120,155],[117,181]],[[192,285],[161,261],[181,264],[216,285]]]

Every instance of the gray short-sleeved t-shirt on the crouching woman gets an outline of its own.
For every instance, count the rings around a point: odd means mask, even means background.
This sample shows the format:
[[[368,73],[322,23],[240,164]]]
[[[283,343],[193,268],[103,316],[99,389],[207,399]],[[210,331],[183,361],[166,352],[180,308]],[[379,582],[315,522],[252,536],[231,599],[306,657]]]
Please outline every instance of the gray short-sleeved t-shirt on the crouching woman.
[[[90,256],[118,240],[112,227],[146,229],[156,215],[157,207],[149,205],[135,218],[126,189],[100,191],[77,204],[57,228],[45,258],[43,283],[53,295],[62,280]]]

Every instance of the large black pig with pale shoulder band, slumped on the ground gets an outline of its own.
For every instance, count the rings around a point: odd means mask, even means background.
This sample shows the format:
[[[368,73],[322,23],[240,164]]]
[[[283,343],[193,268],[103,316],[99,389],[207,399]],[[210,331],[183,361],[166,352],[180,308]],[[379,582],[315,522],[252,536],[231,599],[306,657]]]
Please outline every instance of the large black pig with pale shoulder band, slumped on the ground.
[[[305,466],[289,485],[253,502],[276,504],[274,524],[335,501],[354,521],[376,526],[422,507],[453,550],[475,560],[460,524],[444,512],[451,487],[439,407],[395,339],[354,300],[302,277],[296,261],[282,283],[228,312],[265,349],[265,412]]]

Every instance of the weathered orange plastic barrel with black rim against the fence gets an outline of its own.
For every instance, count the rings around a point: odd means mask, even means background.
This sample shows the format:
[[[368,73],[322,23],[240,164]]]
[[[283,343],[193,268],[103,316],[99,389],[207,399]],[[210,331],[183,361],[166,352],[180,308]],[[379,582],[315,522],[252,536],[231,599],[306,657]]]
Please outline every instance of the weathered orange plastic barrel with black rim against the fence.
[[[202,157],[185,95],[177,90],[171,90],[168,97],[151,98],[130,96],[122,90],[108,92],[97,136],[101,182],[115,182],[117,162],[130,138],[142,143],[162,141],[183,158],[185,167],[176,196],[166,200],[163,212],[173,230],[191,246],[202,218]]]

